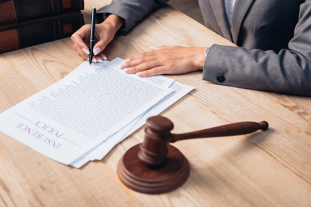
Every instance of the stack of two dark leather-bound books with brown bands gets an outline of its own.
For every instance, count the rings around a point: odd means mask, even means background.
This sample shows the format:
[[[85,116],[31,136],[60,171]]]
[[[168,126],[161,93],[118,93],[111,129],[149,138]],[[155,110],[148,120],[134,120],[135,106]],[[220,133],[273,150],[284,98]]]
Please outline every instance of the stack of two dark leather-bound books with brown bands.
[[[0,0],[0,53],[70,37],[83,0]]]

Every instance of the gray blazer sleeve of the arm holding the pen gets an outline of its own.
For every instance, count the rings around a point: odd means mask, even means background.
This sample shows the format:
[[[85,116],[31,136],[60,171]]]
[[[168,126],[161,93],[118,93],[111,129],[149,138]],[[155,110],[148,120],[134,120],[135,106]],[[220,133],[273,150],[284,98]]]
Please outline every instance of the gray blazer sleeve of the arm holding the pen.
[[[96,11],[96,22],[104,21],[109,14],[116,14],[124,19],[125,25],[118,34],[125,35],[148,14],[168,0],[112,0]]]

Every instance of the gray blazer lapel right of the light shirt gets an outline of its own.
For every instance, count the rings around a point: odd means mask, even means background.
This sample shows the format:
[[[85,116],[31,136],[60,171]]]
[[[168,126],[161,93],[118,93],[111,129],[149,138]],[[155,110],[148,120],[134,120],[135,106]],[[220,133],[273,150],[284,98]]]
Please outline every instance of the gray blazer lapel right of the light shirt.
[[[233,43],[237,43],[238,34],[241,28],[242,21],[249,7],[255,0],[235,0],[232,12],[232,38]]]

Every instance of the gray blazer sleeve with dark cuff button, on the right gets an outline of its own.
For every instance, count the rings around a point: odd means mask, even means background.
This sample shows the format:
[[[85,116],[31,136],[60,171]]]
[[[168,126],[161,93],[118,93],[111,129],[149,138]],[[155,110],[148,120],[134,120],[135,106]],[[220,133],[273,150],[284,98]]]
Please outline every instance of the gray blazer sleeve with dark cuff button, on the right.
[[[213,45],[203,79],[227,86],[311,96],[311,0],[300,5],[288,50],[245,50]]]

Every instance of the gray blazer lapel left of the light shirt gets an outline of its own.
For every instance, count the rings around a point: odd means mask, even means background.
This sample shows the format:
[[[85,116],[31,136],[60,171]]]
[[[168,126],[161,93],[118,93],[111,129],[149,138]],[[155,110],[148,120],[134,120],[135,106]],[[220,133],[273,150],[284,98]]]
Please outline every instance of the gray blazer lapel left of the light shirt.
[[[228,24],[224,0],[210,0],[210,3],[213,8],[214,15],[217,19],[217,23],[223,33],[223,36],[227,40],[233,41]]]

